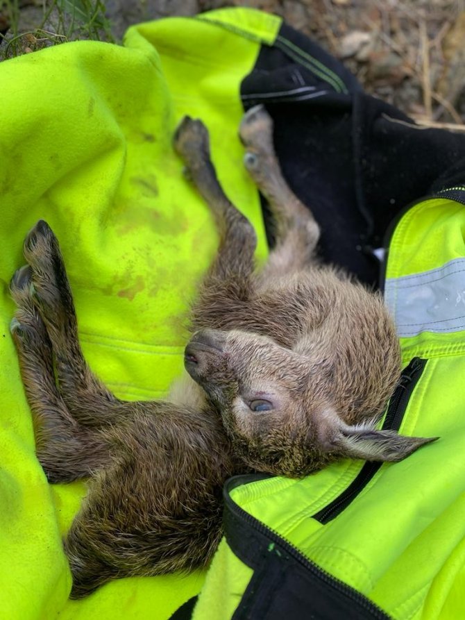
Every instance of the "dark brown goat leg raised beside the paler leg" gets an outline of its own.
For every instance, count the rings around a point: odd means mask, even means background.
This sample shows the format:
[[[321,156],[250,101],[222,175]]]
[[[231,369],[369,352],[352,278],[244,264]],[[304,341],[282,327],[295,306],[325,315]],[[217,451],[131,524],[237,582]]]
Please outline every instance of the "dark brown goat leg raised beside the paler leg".
[[[223,192],[210,160],[207,128],[185,117],[174,136],[188,176],[208,203],[217,221],[220,243],[192,312],[193,328],[228,328],[232,308],[244,310],[251,293],[253,256],[257,239],[251,223]]]

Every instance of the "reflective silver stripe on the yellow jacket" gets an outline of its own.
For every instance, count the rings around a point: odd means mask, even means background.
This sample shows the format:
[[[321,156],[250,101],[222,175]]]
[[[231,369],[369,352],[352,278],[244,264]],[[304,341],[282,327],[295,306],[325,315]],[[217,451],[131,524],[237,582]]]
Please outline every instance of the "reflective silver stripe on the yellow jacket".
[[[465,258],[414,276],[387,278],[384,300],[399,336],[465,329]]]

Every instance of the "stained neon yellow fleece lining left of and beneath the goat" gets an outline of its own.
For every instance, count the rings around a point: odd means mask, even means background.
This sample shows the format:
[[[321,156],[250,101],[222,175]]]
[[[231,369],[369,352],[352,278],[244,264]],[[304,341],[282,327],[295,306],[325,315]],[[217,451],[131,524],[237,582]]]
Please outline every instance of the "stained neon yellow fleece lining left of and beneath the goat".
[[[189,300],[217,246],[171,136],[186,113],[208,124],[219,179],[253,222],[263,257],[260,204],[237,139],[239,86],[279,25],[221,10],[134,26],[125,47],[69,43],[0,65],[1,619],[164,619],[203,583],[201,573],[124,579],[68,601],[61,537],[85,484],[48,485],[35,458],[8,283],[28,229],[46,219],[92,369],[123,399],[163,397],[183,371]]]

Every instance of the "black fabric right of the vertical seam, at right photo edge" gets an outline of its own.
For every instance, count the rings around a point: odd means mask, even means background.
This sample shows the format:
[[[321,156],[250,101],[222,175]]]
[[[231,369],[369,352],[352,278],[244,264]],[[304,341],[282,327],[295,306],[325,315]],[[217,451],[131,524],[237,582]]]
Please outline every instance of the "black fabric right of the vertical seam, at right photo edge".
[[[396,108],[366,94],[357,106],[364,201],[380,238],[408,203],[464,183],[465,135],[396,122]]]

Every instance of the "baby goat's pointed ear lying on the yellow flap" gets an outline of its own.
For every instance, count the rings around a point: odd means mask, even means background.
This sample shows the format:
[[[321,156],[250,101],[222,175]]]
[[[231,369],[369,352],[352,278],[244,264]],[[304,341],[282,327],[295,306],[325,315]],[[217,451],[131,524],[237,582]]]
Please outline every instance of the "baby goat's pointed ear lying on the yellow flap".
[[[374,430],[371,424],[345,426],[333,438],[332,445],[341,456],[368,461],[400,461],[420,446],[439,437],[406,437],[394,430]]]

